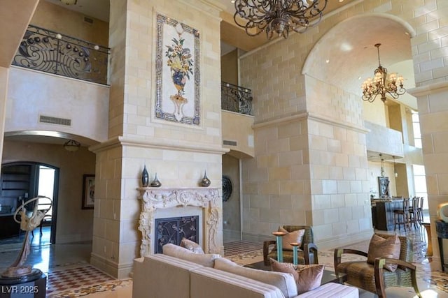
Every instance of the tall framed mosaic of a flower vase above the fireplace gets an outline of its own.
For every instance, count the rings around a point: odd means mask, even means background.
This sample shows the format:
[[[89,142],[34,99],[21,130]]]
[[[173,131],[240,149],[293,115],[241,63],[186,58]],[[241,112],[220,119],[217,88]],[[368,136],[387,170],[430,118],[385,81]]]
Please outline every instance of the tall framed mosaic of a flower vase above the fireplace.
[[[157,15],[155,117],[200,124],[200,33]]]

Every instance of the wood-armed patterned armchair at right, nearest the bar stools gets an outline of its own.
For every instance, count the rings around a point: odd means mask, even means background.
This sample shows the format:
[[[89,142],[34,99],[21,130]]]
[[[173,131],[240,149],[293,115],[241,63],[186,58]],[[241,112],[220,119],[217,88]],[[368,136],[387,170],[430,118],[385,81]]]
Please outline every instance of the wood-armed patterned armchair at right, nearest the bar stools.
[[[395,235],[377,234],[380,237],[388,238]],[[367,253],[354,249],[336,248],[335,249],[335,272],[347,275],[346,283],[354,285],[357,288],[373,292],[379,298],[386,297],[387,287],[413,287],[416,294],[421,297],[416,282],[416,267],[410,263],[412,258],[412,243],[407,237],[400,236],[400,258],[376,258],[374,265],[367,263],[366,260],[341,262],[342,254],[352,253],[367,257]],[[385,263],[396,264],[398,268],[394,271],[384,269]]]

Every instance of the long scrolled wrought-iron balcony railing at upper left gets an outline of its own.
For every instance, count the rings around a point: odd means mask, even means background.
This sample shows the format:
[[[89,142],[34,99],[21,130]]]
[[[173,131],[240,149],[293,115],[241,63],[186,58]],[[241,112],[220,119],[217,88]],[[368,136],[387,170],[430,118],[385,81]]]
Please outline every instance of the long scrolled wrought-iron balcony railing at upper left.
[[[29,25],[13,65],[107,84],[109,48]]]

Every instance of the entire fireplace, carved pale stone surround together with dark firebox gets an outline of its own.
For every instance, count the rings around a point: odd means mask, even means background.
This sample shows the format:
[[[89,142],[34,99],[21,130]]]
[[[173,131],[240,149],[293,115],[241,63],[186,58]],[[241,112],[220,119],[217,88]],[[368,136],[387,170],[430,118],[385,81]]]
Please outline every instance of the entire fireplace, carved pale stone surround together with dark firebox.
[[[139,218],[139,230],[141,231],[140,255],[152,255],[161,253],[162,244],[171,241],[174,236],[161,236],[158,234],[160,223],[178,221],[192,221],[196,218],[197,226],[188,226],[188,229],[196,229],[196,240],[206,253],[221,253],[220,247],[216,244],[218,234],[219,211],[219,188],[139,188],[141,191],[141,214]],[[183,223],[182,223],[183,224]],[[165,226],[165,234],[170,234],[174,228]],[[182,233],[181,233],[182,234]],[[191,234],[190,234],[191,236]],[[162,237],[162,238],[159,238]],[[165,238],[163,238],[165,237]],[[173,239],[168,240],[170,237]],[[176,235],[176,244],[179,235]],[[159,239],[162,242],[159,243]],[[172,242],[174,243],[174,242]]]

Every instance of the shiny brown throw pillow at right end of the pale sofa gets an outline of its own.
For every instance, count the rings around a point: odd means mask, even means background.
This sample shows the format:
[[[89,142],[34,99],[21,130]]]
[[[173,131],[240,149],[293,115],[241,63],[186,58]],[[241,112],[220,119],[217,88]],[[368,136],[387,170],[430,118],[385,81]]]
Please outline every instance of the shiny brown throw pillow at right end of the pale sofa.
[[[321,285],[325,265],[294,265],[293,263],[277,262],[272,258],[269,258],[269,260],[272,271],[293,274],[299,294],[314,290]]]

